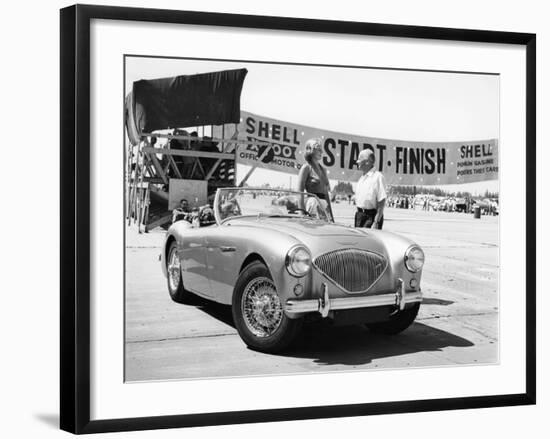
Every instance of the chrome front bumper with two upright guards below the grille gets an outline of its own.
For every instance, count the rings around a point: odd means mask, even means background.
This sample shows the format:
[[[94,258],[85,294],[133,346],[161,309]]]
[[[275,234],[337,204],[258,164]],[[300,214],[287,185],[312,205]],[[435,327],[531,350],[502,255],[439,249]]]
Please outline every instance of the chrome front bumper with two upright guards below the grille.
[[[341,297],[331,299],[328,295],[328,287],[323,283],[323,295],[318,299],[288,299],[285,303],[285,310],[291,313],[319,312],[327,317],[329,311],[339,309],[372,308],[375,306],[395,305],[400,310],[405,308],[407,303],[421,302],[422,292],[405,290],[404,282],[399,279],[399,287],[395,293],[378,294],[363,297]]]

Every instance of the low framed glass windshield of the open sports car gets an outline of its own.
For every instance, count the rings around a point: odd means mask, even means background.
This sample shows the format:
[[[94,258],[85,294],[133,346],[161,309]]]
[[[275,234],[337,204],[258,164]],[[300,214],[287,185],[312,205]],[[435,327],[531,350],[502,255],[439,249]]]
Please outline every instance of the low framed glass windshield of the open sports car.
[[[324,201],[315,195],[280,189],[218,189],[215,209],[219,221],[238,216],[329,220]]]

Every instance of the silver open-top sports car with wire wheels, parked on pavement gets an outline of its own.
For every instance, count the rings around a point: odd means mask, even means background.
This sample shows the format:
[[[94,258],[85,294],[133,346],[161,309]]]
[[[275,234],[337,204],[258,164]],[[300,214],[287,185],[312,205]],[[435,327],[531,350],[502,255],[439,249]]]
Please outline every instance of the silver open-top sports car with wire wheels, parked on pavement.
[[[162,269],[174,301],[231,305],[250,348],[280,352],[315,316],[386,334],[416,318],[424,253],[409,239],[335,224],[301,192],[218,189],[214,214],[170,227]]]

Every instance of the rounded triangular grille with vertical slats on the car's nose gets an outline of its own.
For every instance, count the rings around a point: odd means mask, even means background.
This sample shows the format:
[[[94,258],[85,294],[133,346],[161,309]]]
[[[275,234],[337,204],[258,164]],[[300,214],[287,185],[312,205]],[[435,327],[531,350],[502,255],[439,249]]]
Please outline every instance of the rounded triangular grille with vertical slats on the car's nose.
[[[349,293],[368,290],[386,270],[388,262],[377,253],[358,249],[335,250],[315,258],[315,266]]]

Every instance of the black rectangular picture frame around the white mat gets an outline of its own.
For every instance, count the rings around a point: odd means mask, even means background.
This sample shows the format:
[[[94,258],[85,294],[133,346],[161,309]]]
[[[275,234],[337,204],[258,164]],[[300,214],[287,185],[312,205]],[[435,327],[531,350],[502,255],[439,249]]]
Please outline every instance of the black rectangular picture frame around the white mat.
[[[224,413],[90,420],[90,21],[207,26],[502,43],[526,48],[526,376],[525,393]],[[535,404],[536,401],[536,36],[304,18],[76,5],[61,10],[60,426],[98,433]]]

